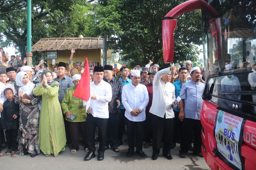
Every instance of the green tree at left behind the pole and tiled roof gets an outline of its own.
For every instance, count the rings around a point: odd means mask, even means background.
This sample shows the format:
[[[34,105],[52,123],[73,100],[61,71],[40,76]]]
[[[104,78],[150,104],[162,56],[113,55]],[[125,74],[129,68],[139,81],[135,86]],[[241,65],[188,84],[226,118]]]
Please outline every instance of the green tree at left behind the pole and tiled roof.
[[[12,43],[22,58],[27,51],[26,5],[26,0],[0,1],[0,39],[7,38],[1,45]],[[92,9],[93,5],[84,0],[32,0],[32,44],[40,38],[90,35]],[[33,64],[40,57],[45,53],[34,52]]]

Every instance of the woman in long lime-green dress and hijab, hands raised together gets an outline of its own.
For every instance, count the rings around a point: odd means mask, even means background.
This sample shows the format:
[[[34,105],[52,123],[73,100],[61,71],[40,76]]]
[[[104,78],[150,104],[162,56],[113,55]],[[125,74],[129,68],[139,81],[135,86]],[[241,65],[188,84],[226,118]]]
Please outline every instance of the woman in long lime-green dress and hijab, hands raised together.
[[[62,118],[58,91],[60,84],[53,81],[52,73],[44,70],[42,82],[34,88],[33,93],[42,96],[41,116],[39,125],[39,143],[41,151],[46,155],[58,156],[65,150],[66,135]]]

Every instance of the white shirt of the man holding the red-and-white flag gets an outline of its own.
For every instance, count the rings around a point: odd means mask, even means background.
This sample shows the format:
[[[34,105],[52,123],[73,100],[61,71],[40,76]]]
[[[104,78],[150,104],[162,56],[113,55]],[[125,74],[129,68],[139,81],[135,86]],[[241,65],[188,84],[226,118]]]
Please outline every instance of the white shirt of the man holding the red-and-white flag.
[[[109,118],[109,102],[112,98],[111,85],[105,81],[101,81],[98,85],[91,82],[91,95],[96,95],[96,100],[90,100],[90,108],[93,109],[91,114],[93,117]],[[83,100],[83,105],[86,105]]]

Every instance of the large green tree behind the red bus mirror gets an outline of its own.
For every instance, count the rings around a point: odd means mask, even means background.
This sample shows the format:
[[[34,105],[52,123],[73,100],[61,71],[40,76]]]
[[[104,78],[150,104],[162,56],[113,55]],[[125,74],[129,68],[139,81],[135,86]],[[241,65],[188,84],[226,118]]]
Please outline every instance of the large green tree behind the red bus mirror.
[[[109,46],[121,50],[122,59],[131,65],[148,60],[163,65],[162,20],[182,0],[99,0],[96,8],[99,35],[109,39]],[[197,61],[201,44],[201,11],[176,18],[174,63]]]

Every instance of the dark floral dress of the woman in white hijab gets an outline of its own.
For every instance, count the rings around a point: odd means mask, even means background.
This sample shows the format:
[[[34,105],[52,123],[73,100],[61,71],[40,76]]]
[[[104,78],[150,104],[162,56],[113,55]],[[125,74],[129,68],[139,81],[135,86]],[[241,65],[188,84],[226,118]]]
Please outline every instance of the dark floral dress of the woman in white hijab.
[[[17,90],[19,91],[19,90]],[[35,96],[32,92],[29,95],[31,103],[23,103],[19,101],[18,92],[15,96],[15,103],[19,104],[19,129],[18,129],[18,152],[23,156],[25,152],[40,153],[38,130],[39,130],[39,96]]]

